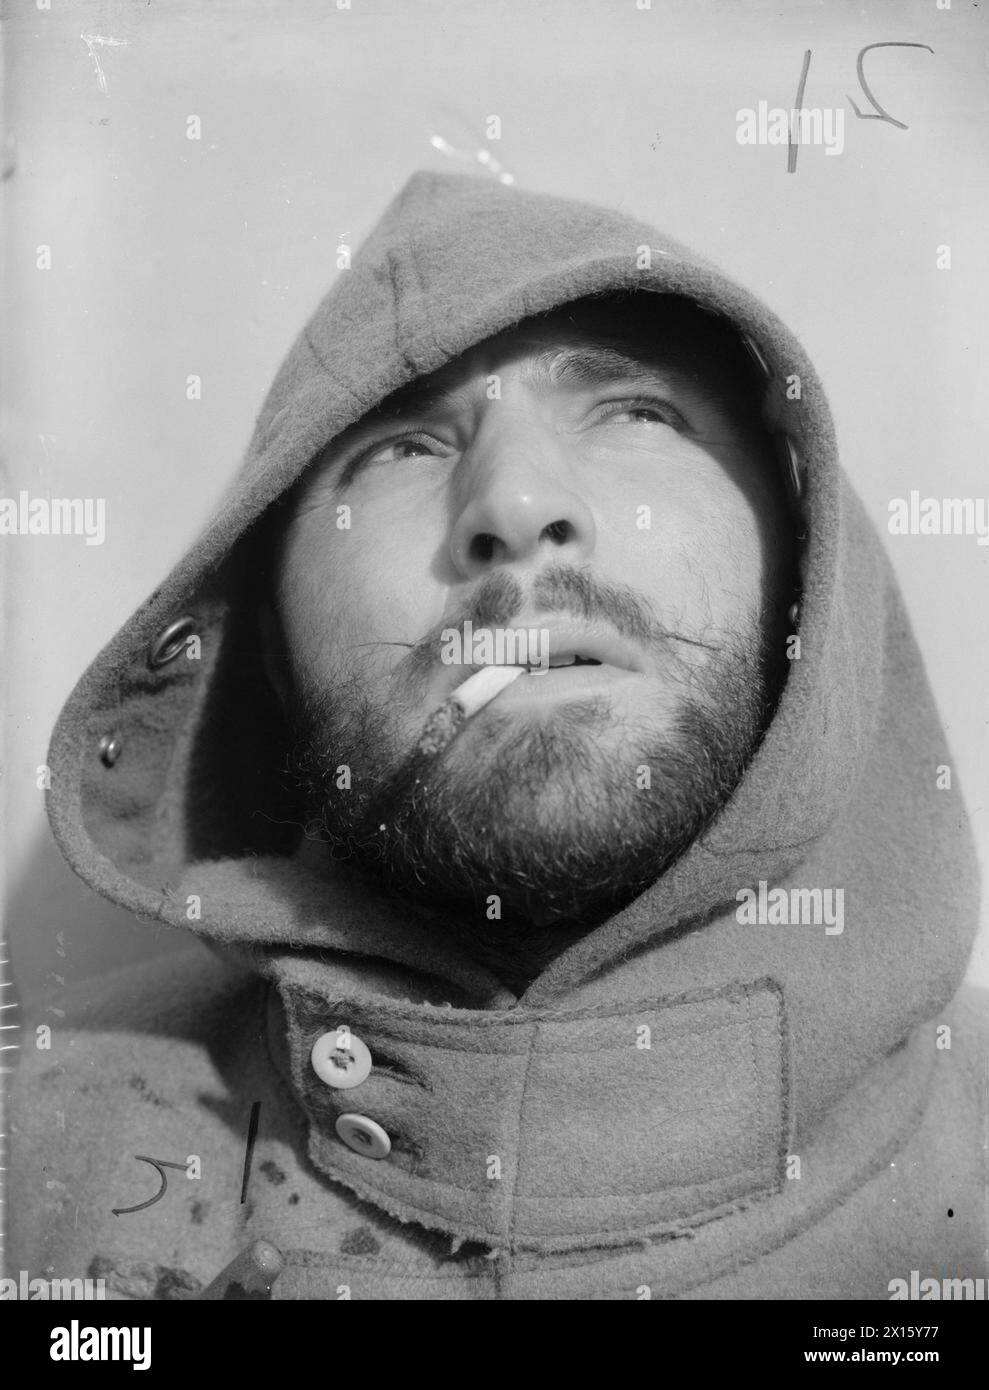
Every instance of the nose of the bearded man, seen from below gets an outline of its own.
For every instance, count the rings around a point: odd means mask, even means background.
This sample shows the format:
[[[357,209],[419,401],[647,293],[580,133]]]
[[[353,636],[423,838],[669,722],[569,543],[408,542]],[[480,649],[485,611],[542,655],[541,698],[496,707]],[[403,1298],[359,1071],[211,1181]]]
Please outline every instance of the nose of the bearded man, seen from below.
[[[499,564],[576,563],[593,553],[597,528],[574,491],[564,449],[558,439],[506,431],[463,460],[468,477],[450,555],[464,578],[478,578]]]

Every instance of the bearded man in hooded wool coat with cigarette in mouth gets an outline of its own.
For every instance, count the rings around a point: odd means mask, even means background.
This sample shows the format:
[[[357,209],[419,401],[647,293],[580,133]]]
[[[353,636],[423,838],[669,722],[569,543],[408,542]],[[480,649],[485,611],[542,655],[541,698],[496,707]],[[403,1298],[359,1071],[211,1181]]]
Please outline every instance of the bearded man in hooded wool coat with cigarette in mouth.
[[[950,763],[789,329],[624,215],[415,175],[56,730],[69,863],[200,944],[24,1069],[25,1268],[131,1298],[975,1277]],[[186,1173],[149,1202],[136,1154]]]

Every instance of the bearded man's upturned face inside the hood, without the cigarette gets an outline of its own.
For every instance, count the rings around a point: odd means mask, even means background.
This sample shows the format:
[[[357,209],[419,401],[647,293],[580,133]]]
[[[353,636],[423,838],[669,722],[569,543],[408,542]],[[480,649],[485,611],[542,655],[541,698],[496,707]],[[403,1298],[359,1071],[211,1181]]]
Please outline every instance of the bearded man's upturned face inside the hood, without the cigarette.
[[[718,332],[647,297],[489,339],[333,441],[290,499],[276,610],[310,809],[338,858],[468,931],[506,931],[490,895],[511,931],[586,927],[642,891],[775,696],[776,470]],[[443,660],[468,617],[581,664],[515,680],[424,760],[475,669]]]

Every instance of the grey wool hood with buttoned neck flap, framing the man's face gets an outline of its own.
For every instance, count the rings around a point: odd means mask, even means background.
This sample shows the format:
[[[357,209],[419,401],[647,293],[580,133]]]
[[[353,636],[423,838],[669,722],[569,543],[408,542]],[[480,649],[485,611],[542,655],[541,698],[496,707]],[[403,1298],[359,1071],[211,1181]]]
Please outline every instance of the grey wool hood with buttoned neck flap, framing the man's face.
[[[386,395],[526,317],[629,291],[689,297],[751,354],[796,499],[799,657],[715,820],[515,998],[428,917],[335,878],[285,823],[251,545]],[[656,229],[482,178],[417,174],[340,270],[217,516],[68,699],[50,767],[76,873],[274,984],[315,1169],[499,1250],[654,1238],[778,1194],[786,1155],[954,995],[976,930],[958,778],[939,787],[953,760],[924,663],[800,343]],[[842,929],[739,920],[742,890],[778,888],[840,891]],[[336,1140],[346,1105],[311,1074],[314,1038],[340,1022],[390,1059],[363,1104],[397,1134],[386,1162]],[[488,1180],[490,1155],[508,1182]]]

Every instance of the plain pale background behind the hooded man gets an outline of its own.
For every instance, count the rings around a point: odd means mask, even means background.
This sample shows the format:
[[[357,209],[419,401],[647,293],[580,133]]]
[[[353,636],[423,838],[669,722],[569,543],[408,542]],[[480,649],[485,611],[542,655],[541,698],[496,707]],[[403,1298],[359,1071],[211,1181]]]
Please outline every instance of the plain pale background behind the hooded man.
[[[108,527],[101,546],[0,542],[3,858],[24,995],[185,944],[101,902],[63,863],[36,785],[53,723],[218,500],[336,274],[340,239],[357,246],[414,170],[467,170],[478,149],[524,188],[654,222],[795,328],[900,575],[985,866],[989,548],[886,534],[890,498],[913,488],[989,495],[985,6],[11,0],[6,11],[0,493],[104,498]],[[892,40],[935,50],[867,58],[906,131],[849,104],[871,111],[856,58]],[[807,49],[804,104],[845,110],[845,150],[804,147],[788,174],[785,147],[738,145],[736,113],[789,108]],[[199,140],[186,138],[190,115]],[[490,115],[497,142],[485,138]],[[436,135],[465,157],[440,153]],[[950,270],[936,268],[942,245]],[[986,940],[972,962],[983,983]]]

